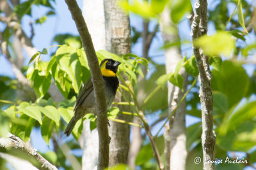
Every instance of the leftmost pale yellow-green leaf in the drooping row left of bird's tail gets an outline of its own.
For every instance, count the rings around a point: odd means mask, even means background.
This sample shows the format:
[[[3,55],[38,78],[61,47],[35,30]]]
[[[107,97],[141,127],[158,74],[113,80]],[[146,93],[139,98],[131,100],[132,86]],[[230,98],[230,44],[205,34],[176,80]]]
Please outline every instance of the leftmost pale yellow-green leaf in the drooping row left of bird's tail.
[[[41,112],[38,110],[38,108],[36,108],[36,106],[26,106],[26,108],[19,107],[19,110],[22,111],[25,115],[34,118],[42,125]]]

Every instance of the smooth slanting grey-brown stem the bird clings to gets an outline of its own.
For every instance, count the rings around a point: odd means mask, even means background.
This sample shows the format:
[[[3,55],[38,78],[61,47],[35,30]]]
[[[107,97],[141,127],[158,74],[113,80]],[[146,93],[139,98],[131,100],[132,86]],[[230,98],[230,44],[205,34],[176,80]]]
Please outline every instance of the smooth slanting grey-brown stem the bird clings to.
[[[98,169],[108,167],[109,162],[109,135],[108,135],[108,117],[107,106],[104,91],[104,82],[100,73],[99,60],[95,53],[92,38],[84,22],[82,11],[76,0],[65,0],[72,18],[76,22],[77,31],[81,37],[88,65],[92,73],[92,83],[95,93],[97,106],[97,127],[99,132],[99,164]]]

